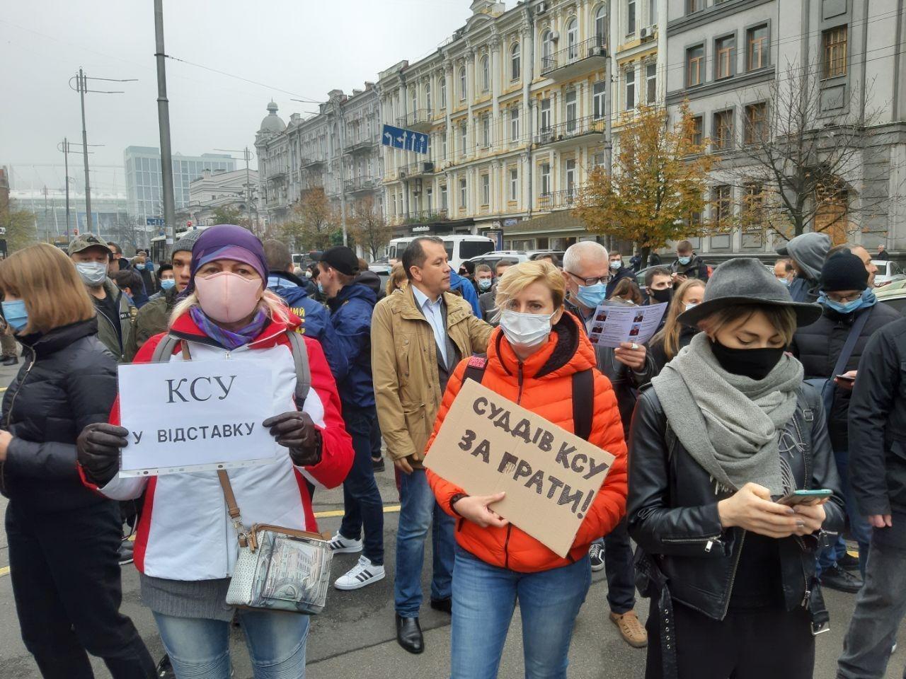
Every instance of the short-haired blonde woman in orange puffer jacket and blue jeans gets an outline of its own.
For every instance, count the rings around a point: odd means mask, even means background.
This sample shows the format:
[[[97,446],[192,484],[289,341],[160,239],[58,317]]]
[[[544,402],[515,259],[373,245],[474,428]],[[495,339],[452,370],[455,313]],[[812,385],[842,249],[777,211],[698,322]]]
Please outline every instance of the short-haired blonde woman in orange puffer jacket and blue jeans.
[[[500,327],[491,335],[482,385],[573,432],[573,374],[593,370],[588,441],[615,455],[567,559],[510,524],[488,505],[503,494],[468,496],[428,472],[440,507],[458,518],[453,569],[453,679],[496,677],[516,601],[522,611],[525,676],[565,677],[573,623],[591,584],[588,546],[619,523],[626,504],[626,444],[610,382],[594,349],[564,311],[564,279],[553,264],[510,267],[497,284]],[[437,435],[465,376],[459,363],[444,394]],[[552,453],[552,461],[553,461]]]

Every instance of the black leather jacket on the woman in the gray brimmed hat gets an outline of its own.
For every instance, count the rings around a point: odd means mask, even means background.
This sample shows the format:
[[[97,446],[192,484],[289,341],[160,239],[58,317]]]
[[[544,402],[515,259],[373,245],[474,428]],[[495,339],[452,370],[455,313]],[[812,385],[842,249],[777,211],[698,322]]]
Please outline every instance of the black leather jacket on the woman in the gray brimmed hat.
[[[824,406],[814,387],[799,387],[796,410],[786,425],[795,446],[789,461],[797,488],[834,491],[824,505],[824,531],[843,528],[843,499]],[[668,445],[670,439],[670,445]],[[723,529],[715,483],[675,435],[667,434],[667,416],[653,388],[639,397],[629,446],[629,531],[667,579],[670,597],[708,617],[727,614],[746,531]],[[811,597],[818,535],[780,540],[786,608],[803,606]]]

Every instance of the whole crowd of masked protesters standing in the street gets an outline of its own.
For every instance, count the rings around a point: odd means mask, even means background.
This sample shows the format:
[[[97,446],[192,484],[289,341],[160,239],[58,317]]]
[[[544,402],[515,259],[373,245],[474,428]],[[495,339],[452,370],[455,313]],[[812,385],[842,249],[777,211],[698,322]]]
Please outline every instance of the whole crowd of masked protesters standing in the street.
[[[803,234],[778,255],[773,270],[712,267],[680,241],[640,286],[641,256],[594,241],[562,262],[454,272],[443,242],[419,237],[386,285],[348,247],[300,271],[285,244],[236,225],[189,232],[169,262],[93,234],[12,254],[3,356],[18,360],[17,341],[24,364],[3,400],[0,491],[26,648],[50,679],[92,677],[89,655],[115,679],[226,679],[234,623],[255,677],[303,677],[307,615],[226,604],[232,527],[317,531],[314,494],[342,484],[327,548],[359,558],[333,586],[391,576],[397,641],[422,653],[430,533],[454,679],[497,675],[517,603],[525,675],[564,677],[599,570],[647,679],[812,677],[832,622],[822,588],[856,595],[838,679],[880,679],[906,611],[906,320],[878,303],[862,246]],[[667,309],[649,342],[589,339],[601,305],[652,304]],[[284,454],[120,476],[117,364],[195,359],[274,371],[261,425]],[[426,468],[467,379],[613,455],[565,556],[496,511],[503,493]],[[384,457],[400,499],[392,573]],[[157,661],[120,613],[129,562]]]

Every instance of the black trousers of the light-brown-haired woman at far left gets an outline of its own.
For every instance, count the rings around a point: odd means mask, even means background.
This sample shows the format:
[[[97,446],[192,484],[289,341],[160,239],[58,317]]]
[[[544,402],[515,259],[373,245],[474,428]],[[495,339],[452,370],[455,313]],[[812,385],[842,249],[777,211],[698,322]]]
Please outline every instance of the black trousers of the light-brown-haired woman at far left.
[[[45,679],[92,679],[88,654],[114,679],[150,679],[154,661],[120,614],[122,524],[116,502],[72,512],[6,509],[10,576],[25,647]]]

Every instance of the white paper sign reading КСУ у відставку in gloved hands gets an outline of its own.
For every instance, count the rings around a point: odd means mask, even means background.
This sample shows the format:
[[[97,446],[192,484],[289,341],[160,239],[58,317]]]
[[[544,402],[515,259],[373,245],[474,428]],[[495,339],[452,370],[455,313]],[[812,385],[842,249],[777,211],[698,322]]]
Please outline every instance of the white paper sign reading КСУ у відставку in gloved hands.
[[[275,462],[286,449],[261,423],[275,415],[263,361],[191,360],[119,367],[129,445],[120,477]]]

